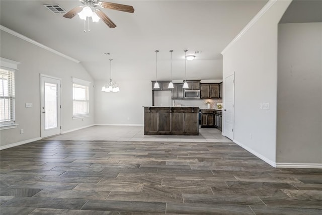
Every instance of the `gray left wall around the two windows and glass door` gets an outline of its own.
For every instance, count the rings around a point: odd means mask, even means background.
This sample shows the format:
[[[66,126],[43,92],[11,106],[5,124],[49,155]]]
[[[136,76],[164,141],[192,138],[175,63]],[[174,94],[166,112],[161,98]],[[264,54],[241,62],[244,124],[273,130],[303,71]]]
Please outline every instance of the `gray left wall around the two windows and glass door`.
[[[1,130],[1,147],[40,137],[40,74],[61,78],[62,131],[94,123],[94,81],[80,63],[56,55],[16,36],[1,31],[1,57],[21,62],[16,72],[17,128]],[[71,77],[91,82],[90,117],[72,119]],[[33,103],[25,108],[25,103]],[[20,129],[24,133],[20,134]]]

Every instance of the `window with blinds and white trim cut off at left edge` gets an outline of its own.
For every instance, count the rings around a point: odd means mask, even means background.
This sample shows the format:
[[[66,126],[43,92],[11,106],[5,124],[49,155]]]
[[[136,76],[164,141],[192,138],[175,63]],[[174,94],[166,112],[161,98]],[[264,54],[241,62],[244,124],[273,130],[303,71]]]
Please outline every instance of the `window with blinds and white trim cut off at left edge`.
[[[15,124],[15,71],[19,62],[0,58],[0,129],[17,127]]]

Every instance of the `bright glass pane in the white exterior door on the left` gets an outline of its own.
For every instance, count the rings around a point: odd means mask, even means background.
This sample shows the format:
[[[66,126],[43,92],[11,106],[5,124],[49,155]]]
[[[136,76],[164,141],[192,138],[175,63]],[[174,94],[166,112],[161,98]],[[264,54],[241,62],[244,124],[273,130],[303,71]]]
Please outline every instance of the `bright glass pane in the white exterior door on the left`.
[[[45,83],[45,129],[57,127],[57,85]]]

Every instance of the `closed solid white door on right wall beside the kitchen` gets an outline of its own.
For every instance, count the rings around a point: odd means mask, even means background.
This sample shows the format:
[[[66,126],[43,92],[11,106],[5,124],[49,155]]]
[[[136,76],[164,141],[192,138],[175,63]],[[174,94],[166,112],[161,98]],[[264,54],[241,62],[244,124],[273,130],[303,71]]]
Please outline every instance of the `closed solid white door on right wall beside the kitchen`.
[[[234,74],[225,78],[224,83],[224,135],[229,139],[233,139],[233,123],[234,123]]]

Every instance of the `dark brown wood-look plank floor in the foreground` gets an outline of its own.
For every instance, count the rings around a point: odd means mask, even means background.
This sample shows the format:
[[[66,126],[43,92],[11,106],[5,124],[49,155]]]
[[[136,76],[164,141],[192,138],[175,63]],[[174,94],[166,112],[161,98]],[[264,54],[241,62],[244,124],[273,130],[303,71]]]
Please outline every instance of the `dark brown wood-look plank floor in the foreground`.
[[[1,214],[322,214],[322,170],[232,143],[39,140],[0,156]]]

